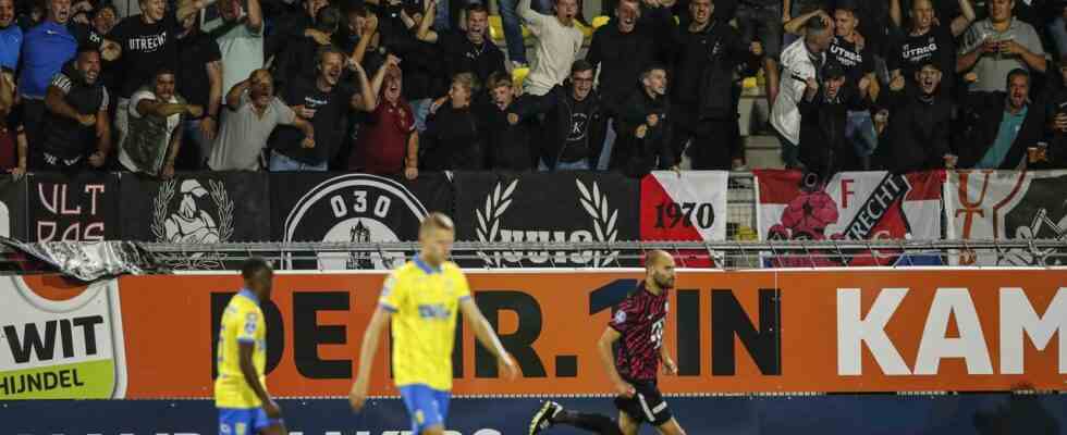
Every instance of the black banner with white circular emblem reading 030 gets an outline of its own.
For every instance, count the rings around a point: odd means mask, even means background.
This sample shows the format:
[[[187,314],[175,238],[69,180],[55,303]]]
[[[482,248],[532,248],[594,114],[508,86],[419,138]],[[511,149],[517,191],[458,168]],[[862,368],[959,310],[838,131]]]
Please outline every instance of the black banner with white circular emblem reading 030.
[[[270,175],[271,239],[279,241],[414,241],[429,212],[452,212],[452,183],[443,173],[418,179],[370,174]],[[384,253],[384,257],[381,256]],[[403,252],[348,256],[287,252],[293,269],[392,269]]]

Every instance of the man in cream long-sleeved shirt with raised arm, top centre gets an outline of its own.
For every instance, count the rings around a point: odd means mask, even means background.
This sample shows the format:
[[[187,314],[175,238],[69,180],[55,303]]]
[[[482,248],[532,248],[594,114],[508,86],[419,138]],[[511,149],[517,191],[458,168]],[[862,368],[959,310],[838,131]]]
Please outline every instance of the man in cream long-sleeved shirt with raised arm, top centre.
[[[543,96],[571,75],[585,36],[575,25],[577,0],[555,0],[555,15],[542,15],[530,9],[530,0],[518,3],[518,13],[537,37],[537,59],[526,77],[526,91]],[[636,85],[635,85],[636,86]]]

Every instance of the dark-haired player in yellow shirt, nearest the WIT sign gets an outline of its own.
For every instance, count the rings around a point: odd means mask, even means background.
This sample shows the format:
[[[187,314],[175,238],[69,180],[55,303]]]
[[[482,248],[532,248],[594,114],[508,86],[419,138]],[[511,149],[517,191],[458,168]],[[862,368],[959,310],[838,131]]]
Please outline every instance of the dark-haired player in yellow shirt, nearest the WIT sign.
[[[262,301],[270,300],[274,271],[263,259],[241,266],[245,287],[230,299],[219,331],[219,377],[214,407],[224,435],[285,434],[282,412],[267,393],[267,323]]]

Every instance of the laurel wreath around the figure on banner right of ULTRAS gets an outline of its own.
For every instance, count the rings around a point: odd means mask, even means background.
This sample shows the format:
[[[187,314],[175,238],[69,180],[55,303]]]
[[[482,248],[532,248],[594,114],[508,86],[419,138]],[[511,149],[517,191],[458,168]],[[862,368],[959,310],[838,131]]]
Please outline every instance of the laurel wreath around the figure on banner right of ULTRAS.
[[[219,211],[219,241],[230,241],[230,238],[233,237],[233,200],[230,199],[230,195],[226,194],[225,186],[221,181],[209,179],[208,187],[211,195],[211,200],[214,202],[216,209]],[[169,206],[171,199],[174,198],[174,191],[176,189],[176,179],[163,182],[159,186],[159,194],[156,195],[156,199],[152,201],[152,223],[150,229],[158,241],[168,241],[165,222],[170,212]],[[199,257],[199,253],[188,257],[177,254],[175,257],[167,258],[164,261],[167,261],[167,263],[174,269],[221,269],[222,259],[225,258],[225,254],[217,253],[211,260],[200,259]]]

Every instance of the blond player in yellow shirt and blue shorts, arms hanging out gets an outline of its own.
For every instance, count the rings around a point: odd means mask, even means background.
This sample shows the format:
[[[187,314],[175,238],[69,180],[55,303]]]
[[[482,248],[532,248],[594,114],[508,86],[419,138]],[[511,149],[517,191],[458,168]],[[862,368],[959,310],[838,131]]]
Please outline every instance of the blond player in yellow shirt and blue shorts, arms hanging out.
[[[378,309],[359,349],[359,370],[348,400],[359,411],[367,400],[370,366],[387,323],[393,332],[393,381],[412,419],[412,433],[443,435],[452,389],[452,346],[458,312],[508,380],[518,373],[515,361],[470,296],[467,278],[447,261],[455,226],[442,213],[430,213],[419,226],[421,250],[393,271],[378,299]]]

